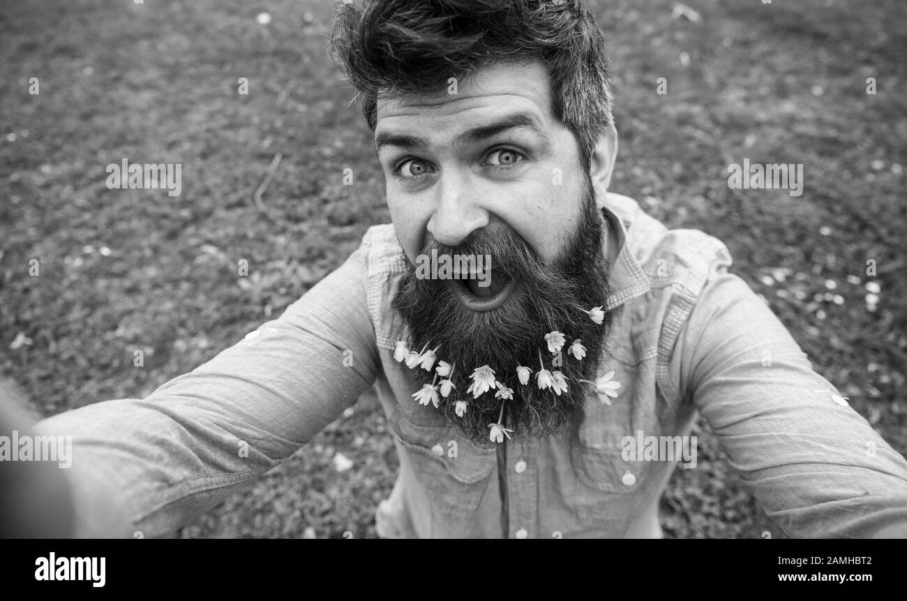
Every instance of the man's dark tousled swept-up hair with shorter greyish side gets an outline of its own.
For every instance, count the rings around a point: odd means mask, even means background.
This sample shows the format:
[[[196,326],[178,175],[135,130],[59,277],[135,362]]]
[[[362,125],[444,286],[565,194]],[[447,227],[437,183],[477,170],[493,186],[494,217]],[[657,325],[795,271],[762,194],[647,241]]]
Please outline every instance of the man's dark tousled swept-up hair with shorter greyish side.
[[[604,34],[586,0],[355,0],[339,5],[330,54],[375,129],[379,98],[444,89],[505,60],[541,61],[553,113],[586,167],[611,123]]]

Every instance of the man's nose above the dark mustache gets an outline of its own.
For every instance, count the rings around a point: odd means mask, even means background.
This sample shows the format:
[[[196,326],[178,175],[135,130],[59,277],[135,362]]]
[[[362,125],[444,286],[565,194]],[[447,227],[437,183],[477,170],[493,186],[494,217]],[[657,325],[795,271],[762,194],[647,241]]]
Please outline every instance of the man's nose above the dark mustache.
[[[428,231],[436,241],[456,246],[473,231],[488,225],[488,211],[467,178],[446,172],[438,180],[434,192],[434,213],[428,220]]]

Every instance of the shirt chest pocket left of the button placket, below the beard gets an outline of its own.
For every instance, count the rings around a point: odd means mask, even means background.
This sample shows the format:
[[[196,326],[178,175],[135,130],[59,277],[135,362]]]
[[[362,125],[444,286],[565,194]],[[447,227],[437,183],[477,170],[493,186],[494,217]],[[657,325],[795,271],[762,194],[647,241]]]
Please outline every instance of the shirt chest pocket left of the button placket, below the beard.
[[[419,410],[423,408],[417,408]],[[427,409],[426,409],[427,410]],[[455,428],[440,422],[417,425],[400,408],[388,419],[401,468],[408,464],[432,508],[438,531],[465,537],[488,488],[497,458],[494,448],[479,448]]]

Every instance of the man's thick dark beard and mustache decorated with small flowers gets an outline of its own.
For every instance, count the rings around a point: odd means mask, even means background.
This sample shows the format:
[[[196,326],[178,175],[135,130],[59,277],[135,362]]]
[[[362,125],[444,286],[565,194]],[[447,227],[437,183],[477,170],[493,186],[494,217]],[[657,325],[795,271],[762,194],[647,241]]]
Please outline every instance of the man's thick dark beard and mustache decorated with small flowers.
[[[556,434],[585,404],[591,387],[579,380],[595,379],[610,322],[606,314],[604,322],[597,324],[586,312],[604,306],[610,290],[609,265],[601,245],[604,217],[596,207],[590,182],[585,196],[579,229],[552,264],[540,261],[511,231],[478,230],[455,248],[437,241],[427,245],[423,253],[429,256],[433,250],[438,257],[491,255],[495,274],[520,281],[521,288],[496,309],[467,309],[445,281],[417,278],[414,264],[405,258],[407,271],[398,283],[393,306],[410,330],[409,349],[437,348],[438,360],[455,364],[451,379],[456,389],[447,398],[439,395],[437,409],[429,406],[425,410],[442,413],[476,444],[489,442],[489,425],[499,419],[516,438]],[[557,354],[548,350],[544,338],[554,330],[565,339],[560,366],[552,365]],[[586,348],[581,361],[568,353],[576,339]],[[566,392],[557,395],[552,389],[539,389],[536,373],[541,369],[540,355],[545,369],[560,369],[566,377]],[[478,399],[466,392],[473,369],[483,365],[491,367],[495,379],[513,390],[512,399],[495,399],[497,389],[486,391]],[[525,385],[517,376],[517,366],[532,369]],[[425,371],[416,366],[410,374],[414,390],[433,383],[434,369]],[[440,379],[434,379],[434,384]],[[458,400],[468,403],[462,418],[454,411]]]

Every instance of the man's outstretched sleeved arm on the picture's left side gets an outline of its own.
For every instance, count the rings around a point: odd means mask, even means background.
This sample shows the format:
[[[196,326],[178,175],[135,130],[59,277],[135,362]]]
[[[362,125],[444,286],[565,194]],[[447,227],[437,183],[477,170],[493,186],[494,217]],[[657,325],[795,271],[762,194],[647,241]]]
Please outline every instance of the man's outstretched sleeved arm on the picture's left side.
[[[73,439],[76,536],[167,536],[352,406],[379,369],[363,252],[277,320],[146,399],[40,421],[39,434]]]

